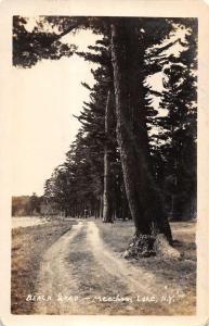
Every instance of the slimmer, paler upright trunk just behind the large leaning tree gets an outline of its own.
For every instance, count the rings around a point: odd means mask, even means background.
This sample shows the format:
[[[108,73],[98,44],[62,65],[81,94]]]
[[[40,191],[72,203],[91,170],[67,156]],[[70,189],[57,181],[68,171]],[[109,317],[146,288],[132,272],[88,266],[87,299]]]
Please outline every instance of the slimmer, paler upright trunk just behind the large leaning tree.
[[[107,92],[105,106],[105,145],[104,145],[104,193],[103,193],[103,222],[113,223],[112,202],[112,175],[110,175],[110,148],[109,136],[112,134],[110,90]]]

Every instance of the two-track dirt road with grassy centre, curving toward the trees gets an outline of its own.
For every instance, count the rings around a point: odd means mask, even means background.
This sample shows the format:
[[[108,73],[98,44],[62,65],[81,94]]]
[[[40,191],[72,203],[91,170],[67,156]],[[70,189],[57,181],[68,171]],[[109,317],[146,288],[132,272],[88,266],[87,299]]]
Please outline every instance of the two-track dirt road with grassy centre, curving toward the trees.
[[[37,314],[166,314],[182,296],[148,269],[117,256],[96,224],[79,222],[43,255]]]

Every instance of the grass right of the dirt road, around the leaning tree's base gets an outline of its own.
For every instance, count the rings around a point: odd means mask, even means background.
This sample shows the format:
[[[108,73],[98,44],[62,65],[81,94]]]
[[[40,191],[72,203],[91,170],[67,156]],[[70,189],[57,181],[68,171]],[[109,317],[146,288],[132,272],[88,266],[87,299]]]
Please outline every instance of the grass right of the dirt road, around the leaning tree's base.
[[[134,233],[132,222],[115,222],[112,227],[97,222],[97,226],[105,243],[108,243],[118,255],[121,255]],[[177,314],[180,311],[182,315],[190,315],[195,313],[196,306],[195,223],[171,223],[171,229],[174,247],[183,254],[181,261],[173,263],[172,261],[154,256],[143,258],[138,261],[133,260],[131,263],[151,271],[157,277],[157,281],[166,284],[168,288],[174,288],[175,285],[180,285],[185,297],[182,306],[177,304]]]

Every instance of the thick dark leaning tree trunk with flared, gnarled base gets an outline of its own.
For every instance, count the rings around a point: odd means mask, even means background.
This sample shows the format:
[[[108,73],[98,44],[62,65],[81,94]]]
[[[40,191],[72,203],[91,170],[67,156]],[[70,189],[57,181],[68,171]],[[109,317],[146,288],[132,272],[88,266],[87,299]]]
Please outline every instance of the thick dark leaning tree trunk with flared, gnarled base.
[[[169,246],[172,242],[170,226],[151,174],[146,116],[141,105],[143,54],[140,52],[136,18],[113,21],[112,61],[117,141],[127,198],[135,224],[135,236],[126,255],[146,256],[160,252],[178,256],[178,252]]]

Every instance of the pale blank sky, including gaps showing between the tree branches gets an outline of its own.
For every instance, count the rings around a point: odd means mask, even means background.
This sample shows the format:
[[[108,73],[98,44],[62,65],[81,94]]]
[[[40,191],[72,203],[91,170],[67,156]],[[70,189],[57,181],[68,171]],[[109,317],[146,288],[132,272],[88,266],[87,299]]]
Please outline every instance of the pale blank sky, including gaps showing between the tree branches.
[[[175,35],[174,38],[178,38]],[[79,51],[94,45],[99,36],[90,30],[68,34],[64,41],[76,43]],[[172,51],[180,51],[175,45]],[[58,61],[42,60],[31,68],[13,67],[12,93],[12,193],[41,196],[45,179],[65,161],[65,153],[79,128],[78,115],[93,85],[95,64],[78,55]],[[161,73],[149,77],[155,90],[162,89]],[[157,105],[157,99],[155,100]]]

